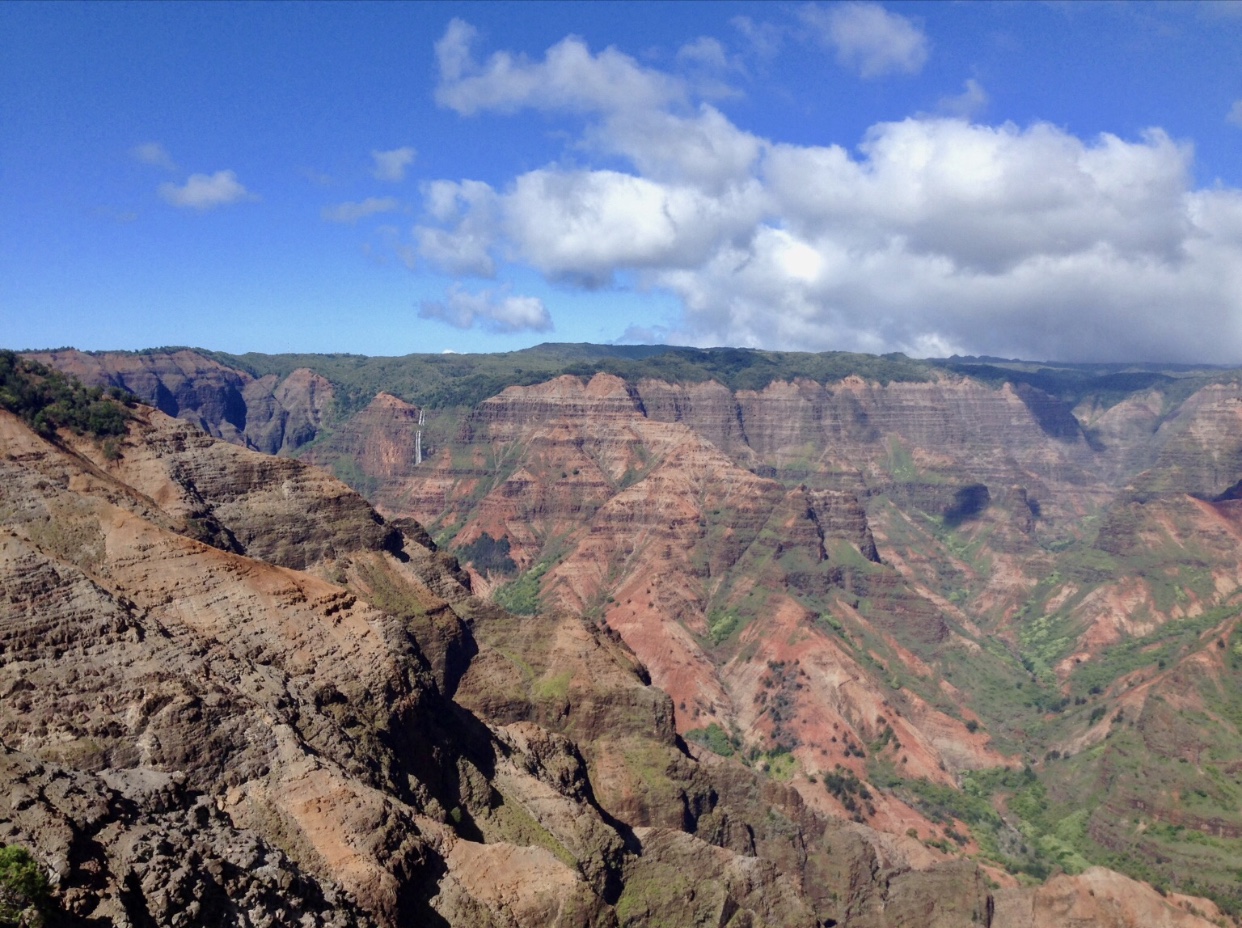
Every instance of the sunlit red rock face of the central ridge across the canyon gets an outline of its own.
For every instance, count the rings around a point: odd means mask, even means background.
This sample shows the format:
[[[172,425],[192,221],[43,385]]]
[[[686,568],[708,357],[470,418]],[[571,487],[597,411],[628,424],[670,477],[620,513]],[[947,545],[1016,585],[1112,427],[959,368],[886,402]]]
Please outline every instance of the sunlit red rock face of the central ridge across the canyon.
[[[917,694],[892,699],[883,675],[861,666],[821,614],[784,593],[802,588],[832,621],[868,629],[850,605],[851,584],[869,584],[881,598],[918,599],[897,571],[874,563],[866,511],[848,488],[861,488],[859,477],[833,488],[786,489],[740,467],[692,427],[705,421],[703,431],[729,440],[740,406],[720,390],[703,385],[678,396],[668,385],[643,384],[636,391],[607,375],[510,388],[479,406],[460,450],[379,496],[394,514],[465,522],[458,544],[487,533],[509,540],[519,566],[546,564],[544,605],[594,615],[615,629],[672,697],[678,730],[714,723],[749,747],[784,745],[799,762],[804,788],[806,778],[838,764],[864,775],[862,745],[886,727],[900,744],[894,763],[912,776],[950,781],[946,770],[1007,763],[961,719]],[[746,403],[768,403],[764,415],[789,424],[795,435],[806,420],[823,416],[806,393],[827,401],[822,389],[802,384]],[[801,404],[800,411],[789,404]],[[653,407],[681,421],[655,421]],[[385,430],[399,427],[386,407],[383,415]],[[775,431],[760,440],[777,458],[791,453],[791,442]],[[478,466],[487,458],[504,461],[502,473]],[[455,467],[462,460],[472,465],[465,472]],[[399,499],[410,508],[396,508]],[[851,569],[876,575],[851,579]],[[919,621],[936,642],[955,637],[935,607]],[[918,658],[895,639],[876,634],[903,672],[927,675],[910,670]],[[789,680],[774,681],[766,668],[776,665],[791,668]],[[822,789],[806,794],[838,809]],[[900,804],[889,805],[871,815],[903,822],[903,830],[904,822],[922,821]]]

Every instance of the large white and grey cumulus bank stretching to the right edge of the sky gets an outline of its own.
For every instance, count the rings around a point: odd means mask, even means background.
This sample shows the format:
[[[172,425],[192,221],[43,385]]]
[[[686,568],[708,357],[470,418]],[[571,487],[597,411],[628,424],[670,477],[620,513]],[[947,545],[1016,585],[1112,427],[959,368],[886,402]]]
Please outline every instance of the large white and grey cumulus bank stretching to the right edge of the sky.
[[[548,75],[563,46],[505,67]],[[612,50],[575,55],[582,87],[617,67]],[[462,80],[487,73],[455,61]],[[1159,129],[1079,138],[918,116],[846,148],[764,139],[668,93],[642,108],[533,86],[471,99],[469,112],[559,101],[584,114],[578,150],[609,163],[426,185],[416,247],[447,270],[515,262],[671,292],[682,316],[661,337],[689,344],[1242,360],[1242,191],[1195,189],[1192,149]],[[468,308],[436,306],[435,318]]]

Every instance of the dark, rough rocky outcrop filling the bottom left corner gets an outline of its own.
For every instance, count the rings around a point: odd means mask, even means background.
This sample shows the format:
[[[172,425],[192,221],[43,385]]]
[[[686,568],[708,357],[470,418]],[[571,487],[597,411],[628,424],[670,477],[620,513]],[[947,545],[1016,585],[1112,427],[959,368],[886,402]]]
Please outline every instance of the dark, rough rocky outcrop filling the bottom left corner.
[[[68,924],[374,924],[175,773],[92,774],[0,744],[0,842],[43,862]]]

